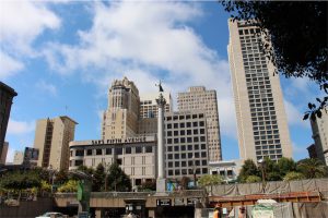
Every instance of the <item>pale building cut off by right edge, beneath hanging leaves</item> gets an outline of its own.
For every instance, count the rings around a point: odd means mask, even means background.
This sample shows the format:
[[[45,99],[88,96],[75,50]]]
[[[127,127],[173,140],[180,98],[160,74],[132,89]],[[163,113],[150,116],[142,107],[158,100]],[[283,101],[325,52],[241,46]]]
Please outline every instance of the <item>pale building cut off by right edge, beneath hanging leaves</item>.
[[[316,156],[328,166],[328,111],[324,110],[320,119],[311,121],[311,126]]]

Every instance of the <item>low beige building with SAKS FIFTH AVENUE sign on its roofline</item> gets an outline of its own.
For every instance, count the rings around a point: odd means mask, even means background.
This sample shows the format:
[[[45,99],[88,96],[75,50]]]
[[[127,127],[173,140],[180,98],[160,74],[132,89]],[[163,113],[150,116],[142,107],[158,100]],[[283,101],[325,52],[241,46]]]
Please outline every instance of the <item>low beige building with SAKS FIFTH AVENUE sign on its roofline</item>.
[[[70,143],[70,170],[79,166],[109,167],[116,161],[131,179],[132,186],[156,178],[156,138],[138,136]]]

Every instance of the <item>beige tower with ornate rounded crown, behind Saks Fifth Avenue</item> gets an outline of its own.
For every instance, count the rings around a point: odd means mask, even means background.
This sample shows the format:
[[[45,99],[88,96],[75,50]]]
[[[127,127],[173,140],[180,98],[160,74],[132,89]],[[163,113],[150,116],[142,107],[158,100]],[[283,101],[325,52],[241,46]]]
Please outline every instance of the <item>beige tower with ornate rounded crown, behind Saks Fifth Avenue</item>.
[[[133,137],[138,133],[140,97],[134,83],[115,80],[108,92],[108,108],[103,114],[102,138]]]

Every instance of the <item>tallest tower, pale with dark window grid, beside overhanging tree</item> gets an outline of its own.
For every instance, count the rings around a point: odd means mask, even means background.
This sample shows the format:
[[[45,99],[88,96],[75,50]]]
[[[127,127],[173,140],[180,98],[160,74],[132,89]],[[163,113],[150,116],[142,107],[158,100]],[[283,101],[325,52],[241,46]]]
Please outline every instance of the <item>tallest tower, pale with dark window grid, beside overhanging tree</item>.
[[[265,57],[259,28],[229,21],[229,60],[235,98],[239,154],[258,161],[292,157],[279,75]]]

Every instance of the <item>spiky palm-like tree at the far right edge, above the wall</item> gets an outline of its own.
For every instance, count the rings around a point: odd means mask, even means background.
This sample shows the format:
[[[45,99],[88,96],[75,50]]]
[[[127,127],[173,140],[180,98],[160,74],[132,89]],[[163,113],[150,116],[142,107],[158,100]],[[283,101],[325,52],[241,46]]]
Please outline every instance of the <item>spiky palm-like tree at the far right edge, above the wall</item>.
[[[306,179],[324,178],[328,175],[328,168],[320,160],[315,158],[302,159],[297,162],[297,171]]]

